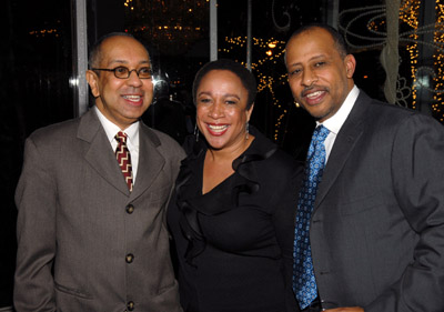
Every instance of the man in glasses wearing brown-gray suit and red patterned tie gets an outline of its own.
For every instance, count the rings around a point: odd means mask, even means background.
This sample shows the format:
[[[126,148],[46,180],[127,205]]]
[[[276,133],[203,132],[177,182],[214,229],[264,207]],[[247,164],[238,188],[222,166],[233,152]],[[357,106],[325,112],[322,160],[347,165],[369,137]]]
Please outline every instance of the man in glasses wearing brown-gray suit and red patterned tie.
[[[165,208],[184,153],[139,118],[152,101],[147,49],[112,33],[90,54],[95,107],[36,131],[17,188],[17,311],[181,311]],[[114,150],[124,131],[130,182]]]

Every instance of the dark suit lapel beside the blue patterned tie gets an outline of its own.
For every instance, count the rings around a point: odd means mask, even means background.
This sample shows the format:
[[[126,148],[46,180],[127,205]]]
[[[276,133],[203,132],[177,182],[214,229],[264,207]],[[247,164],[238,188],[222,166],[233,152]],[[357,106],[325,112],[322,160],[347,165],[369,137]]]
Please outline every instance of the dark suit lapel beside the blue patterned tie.
[[[334,141],[332,152],[330,153],[327,164],[322,175],[322,182],[317,190],[314,211],[324,200],[331,187],[341,173],[345,162],[352,153],[356,142],[360,140],[363,132],[363,120],[365,118],[365,110],[371,102],[362,90],[356,99],[356,102],[350,112],[347,119],[342,125],[337,138]],[[330,164],[330,165],[329,165]]]

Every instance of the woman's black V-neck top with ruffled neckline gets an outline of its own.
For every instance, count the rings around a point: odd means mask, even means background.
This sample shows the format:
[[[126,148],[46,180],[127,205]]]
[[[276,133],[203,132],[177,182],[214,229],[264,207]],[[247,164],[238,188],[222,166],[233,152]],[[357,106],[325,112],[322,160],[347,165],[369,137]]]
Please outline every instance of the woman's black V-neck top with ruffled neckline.
[[[185,312],[285,311],[282,252],[274,214],[295,209],[296,164],[255,137],[234,173],[202,194],[204,142],[182,161],[168,222]]]

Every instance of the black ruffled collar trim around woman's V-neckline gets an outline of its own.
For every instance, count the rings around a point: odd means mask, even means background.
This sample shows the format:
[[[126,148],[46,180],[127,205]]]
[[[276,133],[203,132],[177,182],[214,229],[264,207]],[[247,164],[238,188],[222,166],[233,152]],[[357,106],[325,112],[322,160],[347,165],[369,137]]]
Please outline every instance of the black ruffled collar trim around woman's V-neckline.
[[[192,149],[192,153],[182,161],[176,180],[176,203],[181,212],[180,227],[189,245],[185,260],[193,265],[193,259],[205,249],[206,241],[199,224],[199,213],[216,215],[239,208],[242,193],[259,192],[255,162],[265,160],[274,154],[276,145],[271,143],[254,127],[250,132],[255,137],[249,149],[233,161],[234,173],[221,182],[206,194],[202,194],[203,161],[206,144],[200,141]],[[211,201],[211,202],[210,202]]]

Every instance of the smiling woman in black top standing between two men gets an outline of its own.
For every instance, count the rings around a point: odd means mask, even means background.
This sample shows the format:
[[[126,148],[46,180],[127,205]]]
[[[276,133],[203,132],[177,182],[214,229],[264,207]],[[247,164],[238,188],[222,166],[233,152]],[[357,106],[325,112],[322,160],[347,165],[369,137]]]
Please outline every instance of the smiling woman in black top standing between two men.
[[[291,295],[275,224],[294,210],[301,168],[249,127],[255,93],[252,73],[231,60],[194,79],[203,138],[182,162],[168,215],[188,312],[282,312]]]

